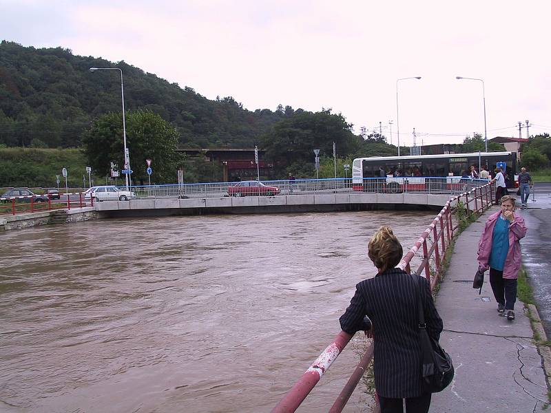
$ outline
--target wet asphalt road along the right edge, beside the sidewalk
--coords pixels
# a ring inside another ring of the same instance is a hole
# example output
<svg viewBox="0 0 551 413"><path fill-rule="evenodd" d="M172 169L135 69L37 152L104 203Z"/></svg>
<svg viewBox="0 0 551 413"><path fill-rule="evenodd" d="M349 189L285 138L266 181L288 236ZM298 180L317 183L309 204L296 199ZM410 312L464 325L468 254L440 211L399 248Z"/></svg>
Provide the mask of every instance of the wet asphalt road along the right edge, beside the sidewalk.
<svg viewBox="0 0 551 413"><path fill-rule="evenodd" d="M520 211L528 226L521 241L523 264L534 288L543 328L551 337L551 182L539 182L532 190L528 209Z"/></svg>

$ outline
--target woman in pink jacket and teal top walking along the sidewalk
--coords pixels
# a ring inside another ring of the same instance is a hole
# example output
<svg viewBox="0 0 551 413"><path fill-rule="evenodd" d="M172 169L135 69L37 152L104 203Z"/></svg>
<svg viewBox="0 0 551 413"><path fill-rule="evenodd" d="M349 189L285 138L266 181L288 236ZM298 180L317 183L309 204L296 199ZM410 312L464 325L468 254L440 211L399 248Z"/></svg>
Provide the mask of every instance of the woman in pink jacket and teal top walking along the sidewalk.
<svg viewBox="0 0 551 413"><path fill-rule="evenodd" d="M478 262L484 271L490 268L490 285L497 301L497 312L514 320L517 279L521 268L520 240L526 235L521 215L514 213L514 198L501 197L501 211L486 221L478 244Z"/></svg>

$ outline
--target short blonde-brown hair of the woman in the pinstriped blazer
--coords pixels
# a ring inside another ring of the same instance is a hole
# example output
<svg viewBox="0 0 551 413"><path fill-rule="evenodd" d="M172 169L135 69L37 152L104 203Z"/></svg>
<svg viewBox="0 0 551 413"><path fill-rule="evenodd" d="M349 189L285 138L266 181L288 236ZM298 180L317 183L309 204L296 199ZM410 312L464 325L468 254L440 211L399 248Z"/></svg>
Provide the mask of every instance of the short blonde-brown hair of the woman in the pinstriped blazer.
<svg viewBox="0 0 551 413"><path fill-rule="evenodd" d="M394 268L402 260L402 244L390 226L381 226L367 246L367 255L381 273Z"/></svg>

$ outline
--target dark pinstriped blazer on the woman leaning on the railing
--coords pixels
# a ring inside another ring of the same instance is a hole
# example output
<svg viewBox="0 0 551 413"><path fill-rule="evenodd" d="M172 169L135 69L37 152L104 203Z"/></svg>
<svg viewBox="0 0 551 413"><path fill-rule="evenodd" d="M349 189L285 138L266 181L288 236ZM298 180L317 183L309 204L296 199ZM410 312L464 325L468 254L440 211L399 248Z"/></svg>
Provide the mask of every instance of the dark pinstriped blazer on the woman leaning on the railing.
<svg viewBox="0 0 551 413"><path fill-rule="evenodd" d="M417 276L415 276L417 278ZM399 268L387 270L356 285L349 308L340 317L342 330L354 334L371 320L375 353L375 389L383 397L397 399L423 394L416 278ZM443 325L430 286L422 278L426 330L439 339Z"/></svg>

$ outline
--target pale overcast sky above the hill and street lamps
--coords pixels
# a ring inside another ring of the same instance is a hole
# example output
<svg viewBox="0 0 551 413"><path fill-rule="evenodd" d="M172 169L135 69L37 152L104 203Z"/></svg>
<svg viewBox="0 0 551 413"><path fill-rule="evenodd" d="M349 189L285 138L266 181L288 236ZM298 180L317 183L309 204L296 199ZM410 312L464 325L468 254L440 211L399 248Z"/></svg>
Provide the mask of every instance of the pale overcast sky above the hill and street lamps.
<svg viewBox="0 0 551 413"><path fill-rule="evenodd" d="M402 145L551 133L551 2L0 0L0 39L125 61L247 109L340 112ZM422 76L421 80L399 78ZM398 93L397 93L398 87ZM397 118L397 98L399 118ZM129 108L132 109L132 108ZM399 121L398 121L399 120Z"/></svg>

